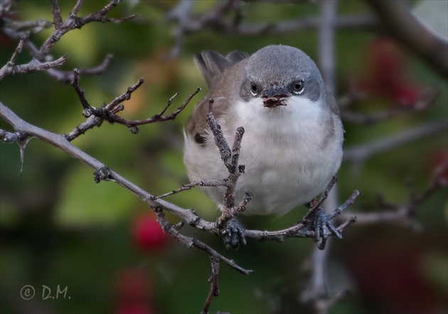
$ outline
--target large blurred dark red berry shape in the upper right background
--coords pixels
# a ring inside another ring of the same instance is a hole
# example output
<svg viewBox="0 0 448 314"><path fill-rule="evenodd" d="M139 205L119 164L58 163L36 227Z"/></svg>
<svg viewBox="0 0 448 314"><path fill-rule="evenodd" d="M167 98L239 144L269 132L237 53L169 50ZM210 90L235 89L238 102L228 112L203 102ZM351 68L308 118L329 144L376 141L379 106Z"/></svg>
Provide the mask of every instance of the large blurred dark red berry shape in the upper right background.
<svg viewBox="0 0 448 314"><path fill-rule="evenodd" d="M410 106L417 103L425 88L411 78L400 48L388 38L376 38L366 53L363 74L356 78L356 93L389 98L395 103Z"/></svg>

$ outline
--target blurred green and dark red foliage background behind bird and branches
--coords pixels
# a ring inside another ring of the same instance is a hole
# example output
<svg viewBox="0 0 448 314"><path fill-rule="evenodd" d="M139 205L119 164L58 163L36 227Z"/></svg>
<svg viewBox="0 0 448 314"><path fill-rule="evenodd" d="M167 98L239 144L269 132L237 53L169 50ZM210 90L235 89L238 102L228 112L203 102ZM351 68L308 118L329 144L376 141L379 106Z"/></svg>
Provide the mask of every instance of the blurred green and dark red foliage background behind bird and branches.
<svg viewBox="0 0 448 314"><path fill-rule="evenodd" d="M107 3L86 1L78 16ZM195 14L203 16L222 4L192 3L192 21L199 21ZM63 19L74 4L60 1ZM195 53L205 49L254 53L281 43L301 48L320 65L321 3L247 1L239 5L242 16L230 12L223 19L242 19L248 26L311 20L317 21L316 27L254 35L206 27L179 39L179 22L167 19L178 1L124 1L110 16L137 14L136 18L121 24L90 23L63 36L50 53L55 58L68 55L63 70L92 68L107 54L114 56L105 73L80 79L91 105L110 103L144 78L142 87L124 103L120 115L127 119L154 115L178 92L174 110L196 88L203 88L174 121L142 125L137 135L105 122L73 144L151 194L164 194L187 183L182 129L193 103L206 95L193 64ZM11 12L9 19L16 21L53 20L49 1L17 1ZM336 19L364 15L373 16L364 1L338 3ZM441 121L446 125L446 75L388 37L387 29L378 23L360 24L336 28L334 38L335 95L343 107L346 150ZM440 27L441 36L446 35L443 19ZM31 40L41 46L52 31L41 31ZM3 66L17 42L0 36ZM29 60L23 51L17 63ZM428 91L437 93L437 98L425 103ZM44 72L1 80L0 100L23 120L55 133L68 133L85 120L73 87ZM363 120L375 112L390 115ZM3 120L0 127L11 131ZM425 192L434 169L447 162L447 147L447 129L442 127L366 158L348 158L338 174L339 202L358 189L361 195L349 209L353 213L391 211L378 202L378 195L393 204L407 204L411 192ZM444 173L441 180L446 182L447 177ZM218 216L215 205L196 190L167 200L195 209L209 221ZM283 229L305 213L301 207L282 217L246 219L244 224L250 229ZM447 214L447 189L442 187L413 212L418 228L402 221L378 221L344 230L343 240L329 248L326 276L330 295L348 293L330 313L447 313ZM249 241L239 251L231 251L211 234L188 227L182 231L255 270L245 277L222 264L221 295L213 299L211 312L313 313L311 304L301 302L316 246L311 239L287 239L281 244ZM96 184L92 169L38 140L28 143L22 172L18 145L0 145L0 236L0 313L199 313L210 288L206 254L163 234L151 209L133 194L112 182ZM33 298L25 300L33 290Z"/></svg>

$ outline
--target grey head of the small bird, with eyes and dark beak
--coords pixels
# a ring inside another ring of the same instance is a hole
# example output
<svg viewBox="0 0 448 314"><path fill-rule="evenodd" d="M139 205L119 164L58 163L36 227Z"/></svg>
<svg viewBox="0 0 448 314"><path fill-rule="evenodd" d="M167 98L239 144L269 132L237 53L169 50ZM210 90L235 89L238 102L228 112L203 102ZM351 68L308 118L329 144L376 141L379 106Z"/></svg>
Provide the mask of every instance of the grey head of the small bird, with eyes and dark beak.
<svg viewBox="0 0 448 314"><path fill-rule="evenodd" d="M317 101L324 93L324 82L314 61L300 49L267 46L247 59L246 79L241 97L262 98L267 108L286 105L291 96Z"/></svg>

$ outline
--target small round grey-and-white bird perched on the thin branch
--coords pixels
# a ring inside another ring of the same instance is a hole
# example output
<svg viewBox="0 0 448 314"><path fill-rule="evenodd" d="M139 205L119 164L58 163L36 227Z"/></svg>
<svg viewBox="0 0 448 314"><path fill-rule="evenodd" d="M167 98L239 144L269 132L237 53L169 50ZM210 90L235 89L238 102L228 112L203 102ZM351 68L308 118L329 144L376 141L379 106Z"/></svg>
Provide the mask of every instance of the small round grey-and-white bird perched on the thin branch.
<svg viewBox="0 0 448 314"><path fill-rule="evenodd" d="M242 214L285 214L323 192L341 165L344 132L336 100L314 61L282 45L252 56L203 51L194 61L209 93L195 105L184 130L188 178L228 177L206 122L213 99L213 116L230 147L238 127L245 129L239 159L245 173L235 203L245 192L253 197ZM225 187L201 189L222 208ZM229 232L242 234L239 226Z"/></svg>

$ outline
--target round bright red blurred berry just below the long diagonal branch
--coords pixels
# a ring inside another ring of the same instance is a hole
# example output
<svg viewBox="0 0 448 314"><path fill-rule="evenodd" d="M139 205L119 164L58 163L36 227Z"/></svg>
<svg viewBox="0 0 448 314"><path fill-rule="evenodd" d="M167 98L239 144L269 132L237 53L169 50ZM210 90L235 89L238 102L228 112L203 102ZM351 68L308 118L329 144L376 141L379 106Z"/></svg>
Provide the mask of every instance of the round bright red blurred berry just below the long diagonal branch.
<svg viewBox="0 0 448 314"><path fill-rule="evenodd" d="M132 222L132 238L145 251L159 251L167 241L156 216L151 212L137 214Z"/></svg>

